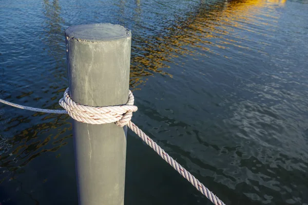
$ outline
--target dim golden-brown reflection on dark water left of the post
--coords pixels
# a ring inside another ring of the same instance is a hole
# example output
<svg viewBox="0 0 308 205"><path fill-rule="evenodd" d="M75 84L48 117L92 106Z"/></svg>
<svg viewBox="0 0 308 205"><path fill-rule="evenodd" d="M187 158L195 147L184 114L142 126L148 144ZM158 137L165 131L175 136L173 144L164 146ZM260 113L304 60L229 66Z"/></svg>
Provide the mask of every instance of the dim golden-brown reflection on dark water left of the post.
<svg viewBox="0 0 308 205"><path fill-rule="evenodd" d="M57 93L63 93L63 89L57 90ZM28 96L30 93L24 93L22 96ZM59 108L58 108L59 109ZM32 124L30 116L16 116L6 121L5 132L16 129L18 131L12 138L5 141L5 145L0 147L0 168L3 174L0 183L10 178L11 174L27 165L34 158L45 152L55 152L67 144L66 139L72 137L71 124L67 115L34 113L32 115L39 118L40 124ZM29 128L22 131L17 129L25 124L30 124ZM5 148L10 147L9 152Z"/></svg>

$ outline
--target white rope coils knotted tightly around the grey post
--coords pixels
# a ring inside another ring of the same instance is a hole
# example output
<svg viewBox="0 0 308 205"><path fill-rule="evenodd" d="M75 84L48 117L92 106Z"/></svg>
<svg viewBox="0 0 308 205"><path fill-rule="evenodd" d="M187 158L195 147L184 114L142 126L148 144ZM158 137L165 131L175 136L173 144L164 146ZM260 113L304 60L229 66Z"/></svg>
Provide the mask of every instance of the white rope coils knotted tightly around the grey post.
<svg viewBox="0 0 308 205"><path fill-rule="evenodd" d="M129 91L128 101L125 105L120 106L104 106L92 107L75 103L69 96L69 88L64 92L63 98L59 100L59 104L63 107L69 116L73 119L88 124L107 124L115 122L120 127L128 124L132 117L132 112L138 110L133 105L134 97Z"/></svg>

